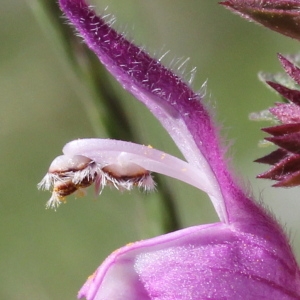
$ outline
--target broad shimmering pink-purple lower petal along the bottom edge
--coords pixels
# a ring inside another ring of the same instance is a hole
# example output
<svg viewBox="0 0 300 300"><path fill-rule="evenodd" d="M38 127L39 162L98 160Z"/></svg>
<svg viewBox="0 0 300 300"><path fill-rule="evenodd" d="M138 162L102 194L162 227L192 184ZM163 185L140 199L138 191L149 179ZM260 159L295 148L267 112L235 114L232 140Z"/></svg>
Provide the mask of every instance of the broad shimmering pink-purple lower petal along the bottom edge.
<svg viewBox="0 0 300 300"><path fill-rule="evenodd" d="M127 245L88 279L88 300L299 299L285 247L218 223ZM274 270L276 270L274 272Z"/></svg>

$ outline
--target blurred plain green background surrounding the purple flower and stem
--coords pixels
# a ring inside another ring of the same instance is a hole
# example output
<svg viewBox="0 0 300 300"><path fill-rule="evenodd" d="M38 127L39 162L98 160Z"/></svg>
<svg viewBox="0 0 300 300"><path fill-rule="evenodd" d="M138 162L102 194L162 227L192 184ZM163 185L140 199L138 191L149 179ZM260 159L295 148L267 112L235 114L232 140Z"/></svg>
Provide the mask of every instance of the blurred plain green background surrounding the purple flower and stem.
<svg viewBox="0 0 300 300"><path fill-rule="evenodd" d="M50 1L50 0L49 0ZM101 197L70 197L56 212L45 210L50 194L38 191L52 159L73 139L108 137L94 111L92 93L65 59L51 30L37 22L38 0L2 1L0 11L0 298L75 299L85 279L116 248L161 233L158 192ZM276 52L295 53L299 45L232 15L217 1L98 0L99 12L117 17L117 28L151 53L171 50L172 58L190 57L197 67L195 89L208 79L208 102L224 126L238 176L251 185L290 232L300 259L299 189L274 190L255 179L265 170L252 163L271 149L257 147L263 134L248 114L279 98L257 79L260 70L277 72ZM63 20L61 20L63 22ZM125 25L125 26L123 26ZM124 101L136 141L179 155L150 113L113 79L109 84ZM101 99L100 99L101 100ZM93 117L94 116L94 117ZM114 124L117 119L111 118ZM134 140L135 141L135 140ZM181 226L217 221L207 197L166 179ZM163 216L162 216L163 217Z"/></svg>

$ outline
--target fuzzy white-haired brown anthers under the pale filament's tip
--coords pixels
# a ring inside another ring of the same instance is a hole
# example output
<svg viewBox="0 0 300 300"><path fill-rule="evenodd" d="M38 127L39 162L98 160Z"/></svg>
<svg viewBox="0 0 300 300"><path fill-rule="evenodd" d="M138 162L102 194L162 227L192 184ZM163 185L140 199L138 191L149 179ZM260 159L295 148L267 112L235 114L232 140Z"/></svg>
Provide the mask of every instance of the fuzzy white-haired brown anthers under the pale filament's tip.
<svg viewBox="0 0 300 300"><path fill-rule="evenodd" d="M93 183L99 194L107 184L121 191L134 187L145 191L155 188L150 172L135 163L117 161L100 164L83 155L61 155L55 158L38 188L52 188L52 196L46 207L55 209L66 201L67 196L74 192L83 194L83 189Z"/></svg>

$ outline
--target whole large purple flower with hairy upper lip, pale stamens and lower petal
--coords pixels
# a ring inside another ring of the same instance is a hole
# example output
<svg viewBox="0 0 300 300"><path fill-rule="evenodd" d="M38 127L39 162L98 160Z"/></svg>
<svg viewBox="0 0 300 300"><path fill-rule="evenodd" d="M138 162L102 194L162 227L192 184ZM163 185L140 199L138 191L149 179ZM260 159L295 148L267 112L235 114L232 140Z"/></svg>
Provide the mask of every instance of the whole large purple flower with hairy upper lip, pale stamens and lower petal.
<svg viewBox="0 0 300 300"><path fill-rule="evenodd" d="M203 97L143 49L127 41L84 0L61 9L121 85L169 132L186 161L149 146L101 139L68 143L41 186L56 207L95 183L153 189L151 172L205 191L220 218L113 252L79 291L98 300L300 299L297 262L275 218L230 173L218 128Z"/></svg>

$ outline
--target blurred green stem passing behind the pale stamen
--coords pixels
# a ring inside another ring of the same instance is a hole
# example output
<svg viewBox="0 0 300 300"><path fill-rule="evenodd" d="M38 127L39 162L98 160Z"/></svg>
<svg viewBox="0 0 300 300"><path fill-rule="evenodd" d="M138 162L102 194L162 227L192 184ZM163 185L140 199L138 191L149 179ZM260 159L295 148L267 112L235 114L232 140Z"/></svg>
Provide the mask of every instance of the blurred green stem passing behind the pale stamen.
<svg viewBox="0 0 300 300"><path fill-rule="evenodd" d="M58 56L62 58L63 69L68 71L71 69L67 78L78 97L84 99L83 104L96 135L99 136L99 129L104 127L111 138L139 142L134 127L123 109L122 101L109 82L106 70L96 56L74 38L72 30L63 24L56 2L31 0L28 3L46 36L55 45ZM90 94L90 97L87 97L87 94ZM161 224L163 232L178 230L181 226L172 190L158 176L156 181L161 199L158 201L158 208L153 209L153 213L151 209L151 216Z"/></svg>

